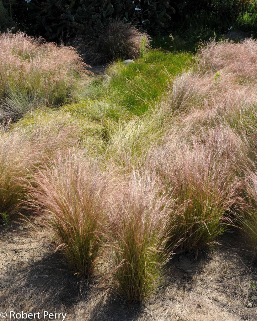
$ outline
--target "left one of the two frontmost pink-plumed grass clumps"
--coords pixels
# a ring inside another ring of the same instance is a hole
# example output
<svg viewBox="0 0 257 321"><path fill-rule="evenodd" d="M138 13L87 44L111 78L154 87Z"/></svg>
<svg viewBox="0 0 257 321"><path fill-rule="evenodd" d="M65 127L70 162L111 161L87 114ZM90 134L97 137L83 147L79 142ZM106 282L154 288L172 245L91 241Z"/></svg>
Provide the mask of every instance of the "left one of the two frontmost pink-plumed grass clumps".
<svg viewBox="0 0 257 321"><path fill-rule="evenodd" d="M38 171L31 197L36 212L46 215L57 249L82 278L93 273L107 227L104 199L108 178L82 155L67 155Z"/></svg>

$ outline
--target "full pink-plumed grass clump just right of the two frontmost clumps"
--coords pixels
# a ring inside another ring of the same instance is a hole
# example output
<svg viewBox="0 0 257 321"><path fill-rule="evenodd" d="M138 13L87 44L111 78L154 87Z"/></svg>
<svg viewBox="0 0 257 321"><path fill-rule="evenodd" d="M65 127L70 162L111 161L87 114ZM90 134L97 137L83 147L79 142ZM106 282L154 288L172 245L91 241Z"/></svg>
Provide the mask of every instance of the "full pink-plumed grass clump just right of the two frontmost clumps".
<svg viewBox="0 0 257 321"><path fill-rule="evenodd" d="M197 250L217 242L230 222L234 179L247 149L232 130L222 127L192 145L183 140L174 144L174 139L170 137L160 152L157 172L180 209L174 238L183 238L185 249Z"/></svg>

